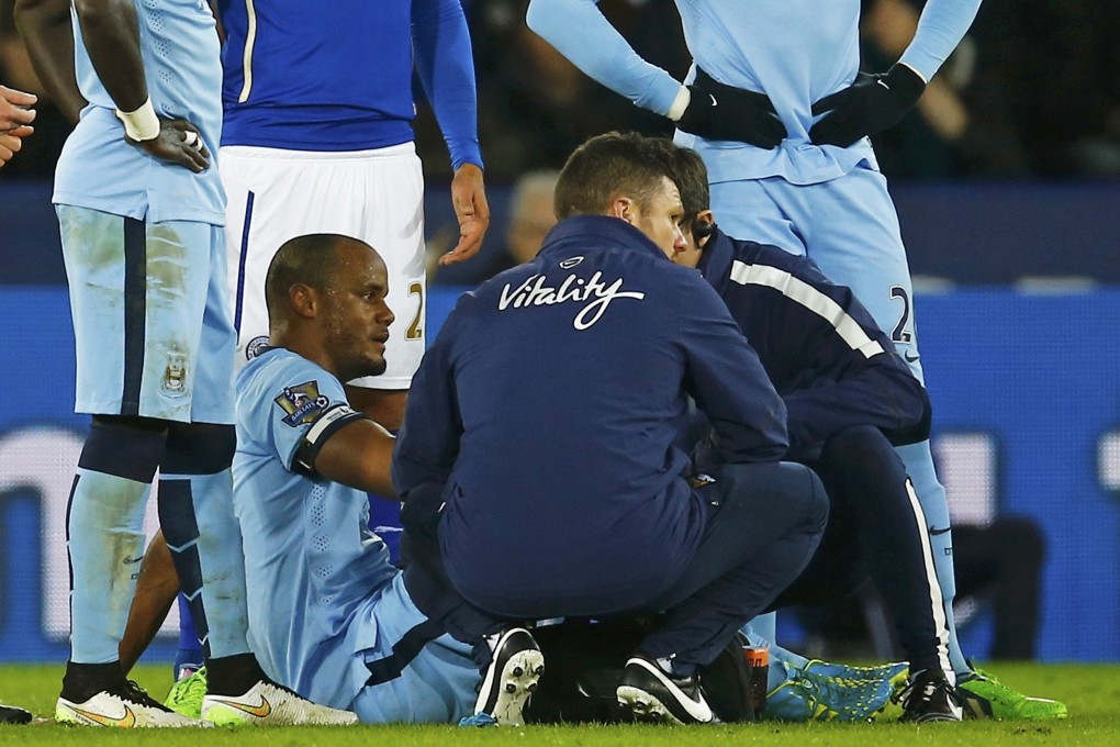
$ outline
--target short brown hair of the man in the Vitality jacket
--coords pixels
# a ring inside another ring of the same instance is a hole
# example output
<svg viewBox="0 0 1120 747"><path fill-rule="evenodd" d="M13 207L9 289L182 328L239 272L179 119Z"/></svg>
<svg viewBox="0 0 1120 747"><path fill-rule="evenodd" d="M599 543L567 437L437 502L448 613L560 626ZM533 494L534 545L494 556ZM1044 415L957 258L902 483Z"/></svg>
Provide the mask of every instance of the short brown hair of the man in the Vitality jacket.
<svg viewBox="0 0 1120 747"><path fill-rule="evenodd" d="M604 213L617 195L633 197L642 207L648 205L671 174L666 142L636 132L607 132L579 146L557 181L552 197L557 218Z"/></svg>

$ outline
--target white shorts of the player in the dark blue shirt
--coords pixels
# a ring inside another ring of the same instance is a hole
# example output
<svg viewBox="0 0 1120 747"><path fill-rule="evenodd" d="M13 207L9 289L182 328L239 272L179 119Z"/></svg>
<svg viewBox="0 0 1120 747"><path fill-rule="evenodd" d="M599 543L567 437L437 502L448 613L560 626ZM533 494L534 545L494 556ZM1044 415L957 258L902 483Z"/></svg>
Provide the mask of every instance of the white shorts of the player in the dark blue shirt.
<svg viewBox="0 0 1120 747"><path fill-rule="evenodd" d="M386 300L396 315L385 373L352 383L408 389L424 349L423 174L413 143L349 152L231 146L221 149L218 164L230 200L235 365L268 342L264 276L280 246L296 236L336 233L381 254L389 270Z"/></svg>

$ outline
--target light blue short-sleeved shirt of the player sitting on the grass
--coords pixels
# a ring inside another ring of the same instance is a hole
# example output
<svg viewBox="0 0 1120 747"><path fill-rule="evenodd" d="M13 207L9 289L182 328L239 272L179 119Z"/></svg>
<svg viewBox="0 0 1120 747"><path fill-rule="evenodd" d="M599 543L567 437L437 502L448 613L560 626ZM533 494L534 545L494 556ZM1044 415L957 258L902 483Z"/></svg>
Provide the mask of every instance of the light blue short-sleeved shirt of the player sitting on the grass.
<svg viewBox="0 0 1120 747"><path fill-rule="evenodd" d="M283 348L260 355L236 383L233 502L249 589L249 641L264 671L318 702L346 707L344 676L375 644L374 608L396 569L368 529L365 493L301 474L296 452L343 385ZM360 624L353 624L358 620Z"/></svg>

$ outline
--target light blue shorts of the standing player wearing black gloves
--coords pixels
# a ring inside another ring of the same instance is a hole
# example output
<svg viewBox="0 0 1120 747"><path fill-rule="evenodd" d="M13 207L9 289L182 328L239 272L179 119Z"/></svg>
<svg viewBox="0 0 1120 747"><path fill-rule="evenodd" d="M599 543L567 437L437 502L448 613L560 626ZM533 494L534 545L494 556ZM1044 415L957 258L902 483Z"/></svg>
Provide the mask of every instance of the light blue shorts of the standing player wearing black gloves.
<svg viewBox="0 0 1120 747"><path fill-rule="evenodd" d="M808 255L830 280L851 288L924 381L909 267L883 174L861 166L820 184L721 181L711 185L711 208L728 235Z"/></svg>

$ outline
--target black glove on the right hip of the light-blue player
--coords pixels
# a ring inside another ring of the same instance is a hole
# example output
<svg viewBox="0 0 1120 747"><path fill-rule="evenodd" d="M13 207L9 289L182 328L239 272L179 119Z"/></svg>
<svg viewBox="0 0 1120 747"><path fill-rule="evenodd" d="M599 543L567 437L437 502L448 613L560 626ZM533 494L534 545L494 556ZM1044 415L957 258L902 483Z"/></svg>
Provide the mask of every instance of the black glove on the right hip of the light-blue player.
<svg viewBox="0 0 1120 747"><path fill-rule="evenodd" d="M813 115L829 112L809 131L818 146L847 148L860 138L895 124L917 103L925 81L906 65L895 64L886 73L860 73L842 91L813 104Z"/></svg>

